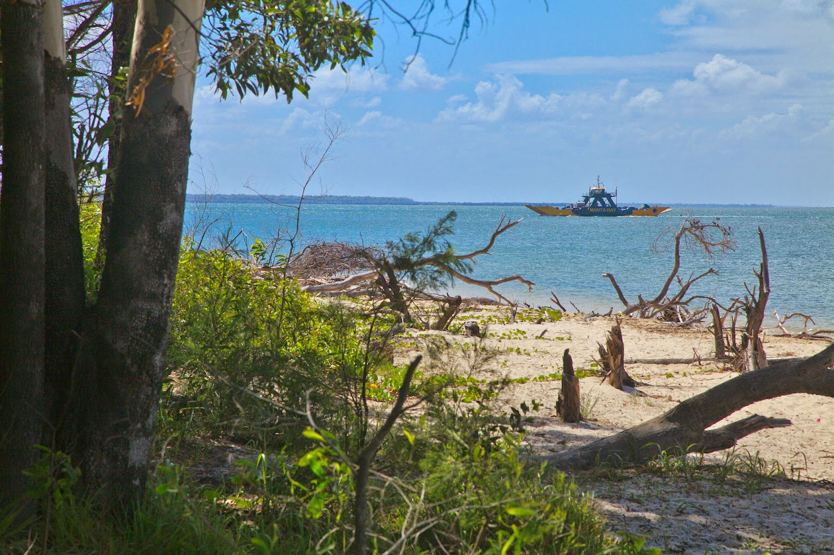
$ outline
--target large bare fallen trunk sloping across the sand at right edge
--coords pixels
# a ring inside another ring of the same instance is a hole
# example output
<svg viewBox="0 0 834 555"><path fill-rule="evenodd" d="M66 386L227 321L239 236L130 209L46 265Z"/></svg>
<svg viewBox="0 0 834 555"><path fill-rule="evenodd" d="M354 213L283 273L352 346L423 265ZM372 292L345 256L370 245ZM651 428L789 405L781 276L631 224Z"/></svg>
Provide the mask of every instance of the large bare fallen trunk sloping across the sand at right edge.
<svg viewBox="0 0 834 555"><path fill-rule="evenodd" d="M811 358L771 364L743 373L715 388L686 399L661 416L583 447L545 457L555 468L587 469L599 463L639 463L661 451L711 453L731 448L741 438L764 428L781 428L784 419L744 418L707 430L752 403L811 393L834 397L834 343Z"/></svg>

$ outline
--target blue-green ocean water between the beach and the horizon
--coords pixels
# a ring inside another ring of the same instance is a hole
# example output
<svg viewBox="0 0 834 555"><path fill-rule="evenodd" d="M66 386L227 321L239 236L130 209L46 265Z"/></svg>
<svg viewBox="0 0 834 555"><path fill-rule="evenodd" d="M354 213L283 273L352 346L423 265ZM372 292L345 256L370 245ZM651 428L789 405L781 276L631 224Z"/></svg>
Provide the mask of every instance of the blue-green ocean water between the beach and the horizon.
<svg viewBox="0 0 834 555"><path fill-rule="evenodd" d="M270 204L207 205L209 219L221 218L207 237L222 228L240 240L270 238L294 231L293 211ZM756 229L765 234L771 275L768 313L805 313L817 328L834 328L834 208L676 208L656 218L542 217L524 206L371 206L307 205L299 221L300 246L314 241L345 241L379 245L404 233L421 232L455 210L455 233L450 243L458 253L482 248L502 217L522 221L502 234L490 255L476 258L475 278L495 279L520 274L535 283L531 291L520 283L500 286L506 297L530 305L550 304L555 293L562 304L583 311L619 309L622 305L603 273L614 274L630 301L637 294L652 298L660 291L672 267L672 251L658 251L656 238L666 228L678 228L683 218L708 221L720 218L736 239L736 250L707 259L703 253L686 253L681 276L715 268L691 288L693 294L711 295L721 303L743 297L745 283L757 283L761 252ZM189 203L186 228L198 205ZM489 296L463 283L450 293ZM675 286L671 291L675 291ZM772 319L771 319L772 322ZM796 318L791 323L801 324Z"/></svg>

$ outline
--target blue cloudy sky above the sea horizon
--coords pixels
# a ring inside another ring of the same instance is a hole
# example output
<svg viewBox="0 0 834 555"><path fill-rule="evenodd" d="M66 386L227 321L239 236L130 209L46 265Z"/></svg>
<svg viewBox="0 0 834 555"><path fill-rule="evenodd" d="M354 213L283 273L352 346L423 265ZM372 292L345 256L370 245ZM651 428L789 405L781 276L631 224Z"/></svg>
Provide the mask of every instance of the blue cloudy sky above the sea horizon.
<svg viewBox="0 0 834 555"><path fill-rule="evenodd" d="M195 166L218 193L297 194L327 114L347 133L314 193L567 202L599 174L625 203L834 206L831 0L496 0L488 15L451 66L426 39L408 72L414 40L382 23L374 59L317 72L289 105L198 82Z"/></svg>

